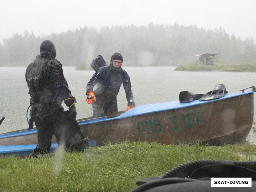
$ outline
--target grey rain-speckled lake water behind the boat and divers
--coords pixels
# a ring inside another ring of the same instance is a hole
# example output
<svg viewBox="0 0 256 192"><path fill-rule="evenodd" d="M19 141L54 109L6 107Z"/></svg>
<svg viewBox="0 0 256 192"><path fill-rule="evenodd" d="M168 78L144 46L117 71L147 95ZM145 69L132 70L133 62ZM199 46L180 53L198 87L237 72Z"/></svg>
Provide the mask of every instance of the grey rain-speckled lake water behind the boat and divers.
<svg viewBox="0 0 256 192"><path fill-rule="evenodd" d="M256 85L255 73L184 72L174 71L175 67L122 67L130 76L136 106L179 100L181 91L205 94L212 91L216 84L224 84L229 93ZM25 71L26 67L0 67L0 118L5 117L0 125L0 133L28 128L26 113L30 96ZM77 100L77 119L92 116L92 106L86 103L85 98L86 84L94 71L76 71L74 67L63 67L63 72ZM125 110L127 100L123 87L117 102L118 110ZM256 133L253 130L247 141L256 144Z"/></svg>

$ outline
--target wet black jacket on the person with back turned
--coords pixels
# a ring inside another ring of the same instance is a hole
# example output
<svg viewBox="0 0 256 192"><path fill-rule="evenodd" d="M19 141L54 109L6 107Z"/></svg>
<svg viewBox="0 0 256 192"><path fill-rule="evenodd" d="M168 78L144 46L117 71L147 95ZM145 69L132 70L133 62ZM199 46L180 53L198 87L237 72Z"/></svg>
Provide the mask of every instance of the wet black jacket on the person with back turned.
<svg viewBox="0 0 256 192"><path fill-rule="evenodd" d="M56 110L64 111L62 100L72 95L55 55L42 51L27 67L25 77L31 96L31 117L44 118Z"/></svg>

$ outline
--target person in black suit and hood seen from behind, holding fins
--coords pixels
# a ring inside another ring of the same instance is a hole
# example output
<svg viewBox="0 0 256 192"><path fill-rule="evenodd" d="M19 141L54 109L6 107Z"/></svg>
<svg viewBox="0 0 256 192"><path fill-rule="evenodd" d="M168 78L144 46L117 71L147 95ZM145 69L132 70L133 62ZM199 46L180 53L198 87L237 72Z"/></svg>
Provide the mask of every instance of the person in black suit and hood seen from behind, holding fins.
<svg viewBox="0 0 256 192"><path fill-rule="evenodd" d="M62 65L55 56L56 49L52 41L43 41L40 55L29 64L25 75L31 97L30 116L38 130L37 148L47 152L50 151L52 135L55 135L57 142L64 144L65 147L84 139L75 120L75 97L72 96L63 76ZM69 107L67 113L61 105L63 100ZM75 140L71 139L73 134L79 136Z"/></svg>

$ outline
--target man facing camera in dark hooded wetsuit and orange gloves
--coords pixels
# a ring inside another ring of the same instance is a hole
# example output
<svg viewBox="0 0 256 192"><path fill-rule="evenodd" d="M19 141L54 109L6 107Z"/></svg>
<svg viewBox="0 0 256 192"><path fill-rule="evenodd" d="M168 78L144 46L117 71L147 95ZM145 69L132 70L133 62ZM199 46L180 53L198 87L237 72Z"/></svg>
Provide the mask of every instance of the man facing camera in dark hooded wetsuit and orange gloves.
<svg viewBox="0 0 256 192"><path fill-rule="evenodd" d="M121 68L123 56L115 52L110 59L110 65L101 67L93 74L86 86L86 102L92 104L93 116L100 117L107 113L117 112L116 96L121 85L124 86L128 102L125 111L135 107L132 95L132 86L128 73ZM97 89L93 87L97 84Z"/></svg>

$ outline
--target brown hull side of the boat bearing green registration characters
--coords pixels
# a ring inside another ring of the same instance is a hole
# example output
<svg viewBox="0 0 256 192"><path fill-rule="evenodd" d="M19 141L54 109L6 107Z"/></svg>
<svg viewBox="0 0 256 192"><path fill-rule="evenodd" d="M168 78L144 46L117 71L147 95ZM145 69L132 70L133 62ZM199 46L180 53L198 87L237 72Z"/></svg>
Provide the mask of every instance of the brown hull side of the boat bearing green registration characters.
<svg viewBox="0 0 256 192"><path fill-rule="evenodd" d="M196 142L222 145L245 140L253 122L253 93L199 102L183 108L81 124L80 128L98 146L126 140L175 145Z"/></svg>

